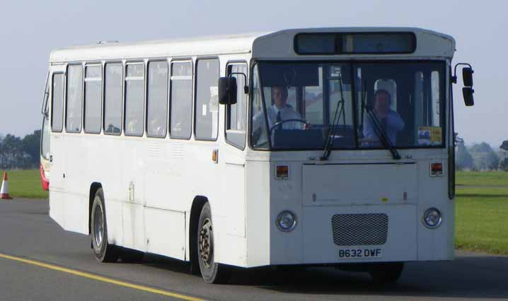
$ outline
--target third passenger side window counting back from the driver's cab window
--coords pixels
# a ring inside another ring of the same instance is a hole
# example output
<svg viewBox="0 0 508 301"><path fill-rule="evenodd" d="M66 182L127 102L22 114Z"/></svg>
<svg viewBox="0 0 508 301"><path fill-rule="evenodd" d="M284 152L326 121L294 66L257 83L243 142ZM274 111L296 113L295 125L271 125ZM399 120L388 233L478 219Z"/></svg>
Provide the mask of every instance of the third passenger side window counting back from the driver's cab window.
<svg viewBox="0 0 508 301"><path fill-rule="evenodd" d="M165 137L168 119L168 62L148 63L148 112L146 134Z"/></svg>

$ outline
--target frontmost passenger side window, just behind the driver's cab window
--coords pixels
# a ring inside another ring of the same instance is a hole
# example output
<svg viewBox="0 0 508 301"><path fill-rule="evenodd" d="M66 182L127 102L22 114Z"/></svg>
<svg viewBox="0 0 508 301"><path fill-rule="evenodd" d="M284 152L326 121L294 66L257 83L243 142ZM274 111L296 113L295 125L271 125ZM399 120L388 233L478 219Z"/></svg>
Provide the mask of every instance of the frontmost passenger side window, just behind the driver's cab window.
<svg viewBox="0 0 508 301"><path fill-rule="evenodd" d="M195 135L197 140L217 139L219 125L219 59L200 59L196 63Z"/></svg>

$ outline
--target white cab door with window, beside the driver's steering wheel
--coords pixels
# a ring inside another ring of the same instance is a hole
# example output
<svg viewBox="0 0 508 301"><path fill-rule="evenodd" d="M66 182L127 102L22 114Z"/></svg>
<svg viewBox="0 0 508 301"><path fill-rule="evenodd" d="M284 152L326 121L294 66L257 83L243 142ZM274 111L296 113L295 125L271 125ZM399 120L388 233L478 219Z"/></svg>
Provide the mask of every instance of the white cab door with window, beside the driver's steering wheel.
<svg viewBox="0 0 508 301"><path fill-rule="evenodd" d="M229 235L245 237L245 156L247 129L247 94L243 90L248 73L247 64L231 63L226 66L227 75L236 78L236 104L226 105L226 144L219 153L224 155L224 185L222 191L228 194L224 206Z"/></svg>

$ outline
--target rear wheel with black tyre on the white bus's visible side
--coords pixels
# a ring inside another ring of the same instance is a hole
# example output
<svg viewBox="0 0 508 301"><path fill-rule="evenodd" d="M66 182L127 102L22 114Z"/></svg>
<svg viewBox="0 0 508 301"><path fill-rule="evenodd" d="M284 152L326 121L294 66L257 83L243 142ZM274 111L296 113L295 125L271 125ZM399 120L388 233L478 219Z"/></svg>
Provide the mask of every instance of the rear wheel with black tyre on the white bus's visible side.
<svg viewBox="0 0 508 301"><path fill-rule="evenodd" d="M91 211L92 249L96 259L100 262L115 262L118 260L118 249L108 243L108 224L104 206L103 189L97 189L93 199Z"/></svg>

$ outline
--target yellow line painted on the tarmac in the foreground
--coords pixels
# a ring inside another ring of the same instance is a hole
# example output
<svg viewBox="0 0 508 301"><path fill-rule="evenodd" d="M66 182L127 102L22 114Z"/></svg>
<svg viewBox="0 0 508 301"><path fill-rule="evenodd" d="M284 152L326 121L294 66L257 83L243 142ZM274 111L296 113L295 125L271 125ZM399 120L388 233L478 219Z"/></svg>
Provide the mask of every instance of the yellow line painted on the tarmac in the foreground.
<svg viewBox="0 0 508 301"><path fill-rule="evenodd" d="M117 281L115 279L108 278L108 277L97 276L97 275L93 275L91 273L85 273L85 272L81 272L81 271L71 270L70 268L62 268L61 266L54 266L52 264L45 264L40 261L24 259L24 258L20 258L20 257L16 257L16 256L10 256L10 255L0 253L0 258L11 259L14 261L20 261L25 264L33 264L34 266L41 266L42 268L50 268L54 271L60 271L60 272L69 273L69 274L76 275L76 276L81 276L84 278L93 279L96 281L103 281L106 283L112 283L112 284L116 284L116 285L120 285L120 286L125 286L126 288L134 288L135 290L143 290L145 292L154 293L154 294L158 294L158 295L175 297L175 298L179 298L182 300L189 300L189 301L202 301L203 300L203 299L196 298L196 297L190 297L190 296L186 296L186 295L180 295L177 293L171 293L171 292L168 292L167 290L158 290L156 288L150 288L150 287L144 286L144 285L137 285L137 284L128 283L128 282L124 282L124 281Z"/></svg>

